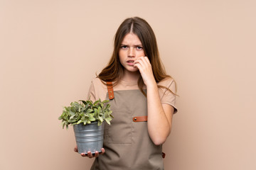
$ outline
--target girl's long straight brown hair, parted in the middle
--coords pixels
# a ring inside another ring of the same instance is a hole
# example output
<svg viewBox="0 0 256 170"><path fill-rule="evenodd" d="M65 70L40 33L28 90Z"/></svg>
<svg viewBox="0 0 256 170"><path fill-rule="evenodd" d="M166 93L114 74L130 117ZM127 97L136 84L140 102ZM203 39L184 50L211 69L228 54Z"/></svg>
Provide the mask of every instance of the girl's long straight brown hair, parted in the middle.
<svg viewBox="0 0 256 170"><path fill-rule="evenodd" d="M161 63L154 31L152 30L151 26L149 26L149 23L139 17L127 18L121 23L117 29L117 33L114 36L114 50L110 62L108 63L107 67L102 69L102 72L100 72L97 77L105 82L114 81L114 86L118 84L123 75L124 69L119 61L119 49L122 40L127 33L134 33L142 42L144 54L149 58L156 83L170 77L166 74L164 66ZM145 92L143 91L144 82L142 77L139 77L138 79L138 86L140 91L142 91L142 93L146 96ZM164 86L159 86L159 88L168 89ZM169 89L169 91L171 90ZM171 91L171 93L173 92Z"/></svg>

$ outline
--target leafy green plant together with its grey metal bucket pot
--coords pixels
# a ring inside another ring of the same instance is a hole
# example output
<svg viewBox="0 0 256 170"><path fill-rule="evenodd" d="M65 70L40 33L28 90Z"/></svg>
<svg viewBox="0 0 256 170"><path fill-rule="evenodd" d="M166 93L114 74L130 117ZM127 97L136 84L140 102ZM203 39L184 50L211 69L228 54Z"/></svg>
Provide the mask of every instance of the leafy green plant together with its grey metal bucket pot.
<svg viewBox="0 0 256 170"><path fill-rule="evenodd" d="M63 128L73 125L78 153L95 153L101 151L104 137L104 121L110 125L113 116L110 104L105 101L75 101L70 106L63 107L63 113L58 118L62 120Z"/></svg>

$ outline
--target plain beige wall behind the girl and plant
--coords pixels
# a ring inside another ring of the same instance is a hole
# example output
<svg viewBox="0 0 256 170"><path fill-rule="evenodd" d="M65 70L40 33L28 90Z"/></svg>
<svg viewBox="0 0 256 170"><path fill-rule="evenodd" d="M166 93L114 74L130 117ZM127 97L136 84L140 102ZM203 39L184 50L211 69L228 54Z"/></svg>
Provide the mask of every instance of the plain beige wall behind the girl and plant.
<svg viewBox="0 0 256 170"><path fill-rule="evenodd" d="M0 1L0 169L89 169L63 130L124 18L156 33L178 83L165 168L256 169L255 1Z"/></svg>

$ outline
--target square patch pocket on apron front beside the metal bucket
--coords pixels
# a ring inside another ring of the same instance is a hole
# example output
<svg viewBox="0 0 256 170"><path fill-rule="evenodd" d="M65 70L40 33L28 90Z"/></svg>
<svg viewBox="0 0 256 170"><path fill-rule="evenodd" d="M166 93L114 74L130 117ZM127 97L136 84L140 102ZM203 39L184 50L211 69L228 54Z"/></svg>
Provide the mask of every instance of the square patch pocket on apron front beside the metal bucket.
<svg viewBox="0 0 256 170"><path fill-rule="evenodd" d="M105 137L108 143L131 144L132 143L132 111L124 109L112 110L114 118L111 125L106 125Z"/></svg>

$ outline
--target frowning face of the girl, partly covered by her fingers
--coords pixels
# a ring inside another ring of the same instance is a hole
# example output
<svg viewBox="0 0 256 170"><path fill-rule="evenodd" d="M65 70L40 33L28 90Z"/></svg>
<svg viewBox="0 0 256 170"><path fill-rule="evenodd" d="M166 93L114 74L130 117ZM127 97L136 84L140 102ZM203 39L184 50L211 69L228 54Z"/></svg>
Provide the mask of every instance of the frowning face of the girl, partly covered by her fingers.
<svg viewBox="0 0 256 170"><path fill-rule="evenodd" d="M134 67L134 61L144 56L142 42L138 36L134 33L127 33L119 49L119 60L124 67L124 71L137 72L138 68Z"/></svg>

